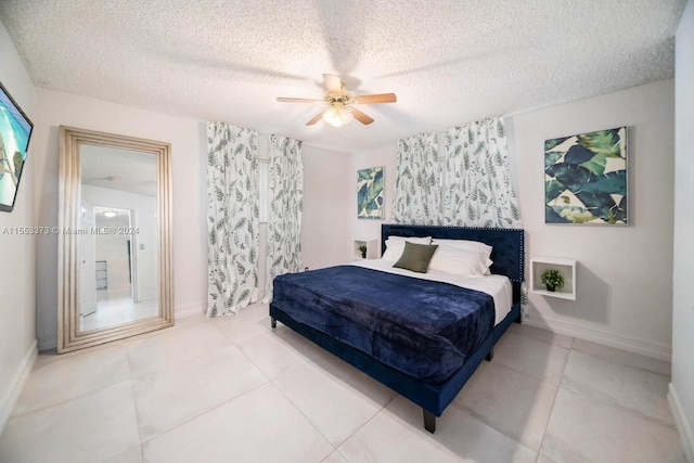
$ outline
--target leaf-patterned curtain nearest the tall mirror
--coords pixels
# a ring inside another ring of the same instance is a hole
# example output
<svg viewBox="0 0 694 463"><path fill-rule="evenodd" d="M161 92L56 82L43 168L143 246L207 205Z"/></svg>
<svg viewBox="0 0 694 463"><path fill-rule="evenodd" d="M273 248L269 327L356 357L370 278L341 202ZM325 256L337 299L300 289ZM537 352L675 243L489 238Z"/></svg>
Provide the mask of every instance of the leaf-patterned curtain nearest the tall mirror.
<svg viewBox="0 0 694 463"><path fill-rule="evenodd" d="M258 133L207 124L207 316L258 297Z"/></svg>

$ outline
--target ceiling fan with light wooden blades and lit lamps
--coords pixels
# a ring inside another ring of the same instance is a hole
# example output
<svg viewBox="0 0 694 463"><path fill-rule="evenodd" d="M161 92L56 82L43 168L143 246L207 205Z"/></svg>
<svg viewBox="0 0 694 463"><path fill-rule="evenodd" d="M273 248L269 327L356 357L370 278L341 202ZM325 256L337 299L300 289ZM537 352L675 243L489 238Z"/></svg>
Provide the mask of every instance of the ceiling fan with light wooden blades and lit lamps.
<svg viewBox="0 0 694 463"><path fill-rule="evenodd" d="M395 103L397 101L395 93L352 97L345 88L345 82L334 74L323 74L323 82L325 83L325 97L322 100L280 97L278 98L278 101L290 103L327 103L330 107L319 113L316 117L306 123L306 125L312 126L322 118L333 127L342 127L352 118L364 125L373 123L372 117L367 116L364 113L354 107L354 104Z"/></svg>

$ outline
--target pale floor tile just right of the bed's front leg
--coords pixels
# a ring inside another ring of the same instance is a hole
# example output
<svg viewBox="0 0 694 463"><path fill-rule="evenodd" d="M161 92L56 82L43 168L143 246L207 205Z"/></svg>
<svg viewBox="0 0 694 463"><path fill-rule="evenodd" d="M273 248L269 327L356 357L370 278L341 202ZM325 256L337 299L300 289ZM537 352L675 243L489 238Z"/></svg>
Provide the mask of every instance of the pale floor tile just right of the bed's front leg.
<svg viewBox="0 0 694 463"><path fill-rule="evenodd" d="M555 385L505 365L483 362L453 404L538 451L556 389Z"/></svg>

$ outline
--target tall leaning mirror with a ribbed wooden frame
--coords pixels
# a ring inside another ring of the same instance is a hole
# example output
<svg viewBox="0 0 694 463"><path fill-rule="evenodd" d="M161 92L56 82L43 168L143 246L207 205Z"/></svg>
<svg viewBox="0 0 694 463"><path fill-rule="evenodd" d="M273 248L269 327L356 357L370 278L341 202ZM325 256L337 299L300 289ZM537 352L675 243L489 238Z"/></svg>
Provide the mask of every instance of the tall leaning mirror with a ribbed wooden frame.
<svg viewBox="0 0 694 463"><path fill-rule="evenodd" d="M171 326L170 145L60 137L59 353Z"/></svg>

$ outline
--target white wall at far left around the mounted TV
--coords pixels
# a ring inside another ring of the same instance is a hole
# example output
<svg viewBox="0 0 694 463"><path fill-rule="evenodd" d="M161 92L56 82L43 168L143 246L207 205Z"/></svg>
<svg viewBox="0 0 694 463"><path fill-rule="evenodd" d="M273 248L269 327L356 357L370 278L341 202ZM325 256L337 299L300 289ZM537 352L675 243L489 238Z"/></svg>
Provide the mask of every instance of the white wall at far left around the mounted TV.
<svg viewBox="0 0 694 463"><path fill-rule="evenodd" d="M2 23L0 81L36 124L36 90ZM0 213L0 433L36 357L36 239L34 235L11 234L9 231L15 227L37 224L34 208L37 159L34 143L33 137L14 210Z"/></svg>

